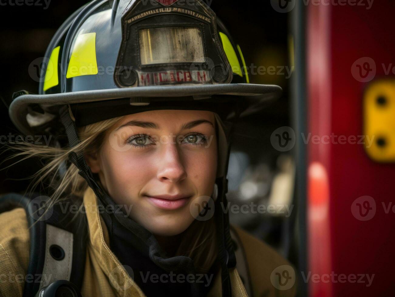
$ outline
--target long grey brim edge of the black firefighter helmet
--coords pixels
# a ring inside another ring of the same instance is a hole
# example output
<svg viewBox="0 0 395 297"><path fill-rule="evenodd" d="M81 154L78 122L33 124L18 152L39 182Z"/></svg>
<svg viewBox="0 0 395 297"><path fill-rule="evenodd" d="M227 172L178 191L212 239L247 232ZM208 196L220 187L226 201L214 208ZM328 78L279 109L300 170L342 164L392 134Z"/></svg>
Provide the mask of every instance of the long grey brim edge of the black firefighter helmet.
<svg viewBox="0 0 395 297"><path fill-rule="evenodd" d="M241 100L251 101L251 105L278 99L282 88L276 85L262 84L214 84L182 86L148 86L135 88L116 88L106 90L88 90L48 95L21 95L9 106L9 117L15 127L23 134L30 133L26 121L27 108L34 104L63 105L83 102L104 101L128 97L183 97L204 95L241 96Z"/></svg>

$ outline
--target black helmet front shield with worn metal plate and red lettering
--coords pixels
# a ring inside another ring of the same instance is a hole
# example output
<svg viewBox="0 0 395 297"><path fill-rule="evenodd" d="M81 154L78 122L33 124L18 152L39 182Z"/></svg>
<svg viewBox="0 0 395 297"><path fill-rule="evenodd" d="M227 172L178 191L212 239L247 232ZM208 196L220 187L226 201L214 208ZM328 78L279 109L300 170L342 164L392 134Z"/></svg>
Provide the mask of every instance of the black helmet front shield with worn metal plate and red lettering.
<svg viewBox="0 0 395 297"><path fill-rule="evenodd" d="M135 2L122 17L118 86L231 82L211 9L200 1L146 3Z"/></svg>

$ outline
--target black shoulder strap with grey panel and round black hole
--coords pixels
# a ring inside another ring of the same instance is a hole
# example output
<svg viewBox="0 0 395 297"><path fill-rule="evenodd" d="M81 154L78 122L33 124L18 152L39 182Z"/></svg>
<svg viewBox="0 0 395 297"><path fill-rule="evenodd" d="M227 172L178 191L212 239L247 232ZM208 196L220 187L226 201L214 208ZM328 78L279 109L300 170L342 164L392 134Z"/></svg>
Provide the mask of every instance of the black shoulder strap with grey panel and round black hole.
<svg viewBox="0 0 395 297"><path fill-rule="evenodd" d="M34 296L56 280L68 280L81 290L88 234L85 212L71 220L70 206L56 204L43 213L40 208L48 198L38 193L32 197L17 193L0 196L0 213L23 207L30 227L30 278L26 278L29 282L24 284L23 297Z"/></svg>

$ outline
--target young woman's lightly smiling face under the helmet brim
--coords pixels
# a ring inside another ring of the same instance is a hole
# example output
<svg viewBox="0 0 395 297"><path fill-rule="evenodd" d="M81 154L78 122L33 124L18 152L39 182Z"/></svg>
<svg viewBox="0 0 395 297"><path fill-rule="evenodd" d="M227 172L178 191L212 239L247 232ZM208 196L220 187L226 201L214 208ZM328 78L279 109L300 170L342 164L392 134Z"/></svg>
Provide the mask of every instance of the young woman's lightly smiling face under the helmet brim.
<svg viewBox="0 0 395 297"><path fill-rule="evenodd" d="M131 114L108 131L87 162L129 217L153 234L176 235L193 222L192 207L213 193L215 125L209 111Z"/></svg>

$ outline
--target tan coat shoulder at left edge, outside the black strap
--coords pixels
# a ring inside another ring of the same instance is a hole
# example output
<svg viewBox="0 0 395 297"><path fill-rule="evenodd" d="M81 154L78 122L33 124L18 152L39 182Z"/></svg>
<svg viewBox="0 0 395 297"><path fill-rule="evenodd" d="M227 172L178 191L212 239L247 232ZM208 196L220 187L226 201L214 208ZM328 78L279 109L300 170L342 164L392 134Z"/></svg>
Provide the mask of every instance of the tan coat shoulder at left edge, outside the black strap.
<svg viewBox="0 0 395 297"><path fill-rule="evenodd" d="M30 252L25 210L0 213L0 226L0 296L22 296Z"/></svg>

